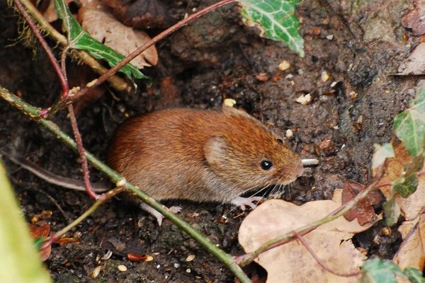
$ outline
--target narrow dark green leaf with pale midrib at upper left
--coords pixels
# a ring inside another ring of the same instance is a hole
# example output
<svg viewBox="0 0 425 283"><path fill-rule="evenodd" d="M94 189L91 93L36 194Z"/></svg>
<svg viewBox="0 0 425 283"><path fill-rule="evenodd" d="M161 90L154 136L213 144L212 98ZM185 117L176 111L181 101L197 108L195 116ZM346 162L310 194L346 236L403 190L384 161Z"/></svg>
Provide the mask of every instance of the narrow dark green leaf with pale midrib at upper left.
<svg viewBox="0 0 425 283"><path fill-rule="evenodd" d="M55 0L55 10L57 16L59 16L62 21L64 28L68 32L68 45L71 48L84 50L89 52L96 59L103 59L108 62L108 64L113 67L119 62L121 62L125 56L115 52L111 48L103 45L101 42L98 42L93 37L81 28L81 25L77 23L74 16L72 16L71 11L64 0ZM120 69L129 79L135 77L136 79L145 79L145 76L137 67L132 64L126 64L123 68Z"/></svg>

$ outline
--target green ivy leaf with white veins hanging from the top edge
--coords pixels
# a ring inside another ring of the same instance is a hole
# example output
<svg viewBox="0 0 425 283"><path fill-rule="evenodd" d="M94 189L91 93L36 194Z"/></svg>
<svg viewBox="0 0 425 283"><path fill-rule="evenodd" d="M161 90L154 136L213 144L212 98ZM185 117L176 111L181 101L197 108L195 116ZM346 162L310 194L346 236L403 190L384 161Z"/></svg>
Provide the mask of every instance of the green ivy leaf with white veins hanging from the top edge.
<svg viewBox="0 0 425 283"><path fill-rule="evenodd" d="M304 40L295 16L295 7L299 3L300 0L239 0L247 25L256 25L262 37L282 41L304 57Z"/></svg>

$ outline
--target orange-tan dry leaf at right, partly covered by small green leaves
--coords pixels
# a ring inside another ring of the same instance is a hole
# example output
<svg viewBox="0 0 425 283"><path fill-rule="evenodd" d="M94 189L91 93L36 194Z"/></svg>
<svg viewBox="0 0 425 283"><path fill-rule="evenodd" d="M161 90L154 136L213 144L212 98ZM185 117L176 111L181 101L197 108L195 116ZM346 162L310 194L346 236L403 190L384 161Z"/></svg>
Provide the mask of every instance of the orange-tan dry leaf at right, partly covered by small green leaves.
<svg viewBox="0 0 425 283"><path fill-rule="evenodd" d="M404 149L402 143L396 144L394 146L394 153L395 158L387 159L387 172L385 172L380 183L392 182L399 178L400 174L402 173L404 164L412 161L412 158L407 153L407 150ZM424 168L422 168L422 171L424 171ZM425 207L425 175L419 176L418 179L418 187L416 192L414 192L412 195L407 198L395 195L395 201L399 205L402 211L402 215L407 221L415 219L421 212L421 209ZM380 190L385 195L385 197L390 197L390 186L380 187Z"/></svg>

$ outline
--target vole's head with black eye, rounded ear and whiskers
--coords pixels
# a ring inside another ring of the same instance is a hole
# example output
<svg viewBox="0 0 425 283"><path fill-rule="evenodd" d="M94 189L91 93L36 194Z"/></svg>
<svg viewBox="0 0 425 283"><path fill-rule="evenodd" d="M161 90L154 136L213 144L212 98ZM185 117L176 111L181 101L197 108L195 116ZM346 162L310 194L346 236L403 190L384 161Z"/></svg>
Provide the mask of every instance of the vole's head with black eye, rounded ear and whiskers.
<svg viewBox="0 0 425 283"><path fill-rule="evenodd" d="M217 133L204 144L212 171L242 193L268 185L287 185L302 175L300 158L282 139L246 112L224 107Z"/></svg>

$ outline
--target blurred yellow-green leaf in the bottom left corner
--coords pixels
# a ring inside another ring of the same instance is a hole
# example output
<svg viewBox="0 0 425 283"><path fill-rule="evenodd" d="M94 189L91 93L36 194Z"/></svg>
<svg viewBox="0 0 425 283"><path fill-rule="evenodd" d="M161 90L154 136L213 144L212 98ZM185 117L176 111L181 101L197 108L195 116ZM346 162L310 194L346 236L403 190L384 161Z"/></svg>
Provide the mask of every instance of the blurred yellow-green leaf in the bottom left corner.
<svg viewBox="0 0 425 283"><path fill-rule="evenodd" d="M0 282L51 282L0 162Z"/></svg>

